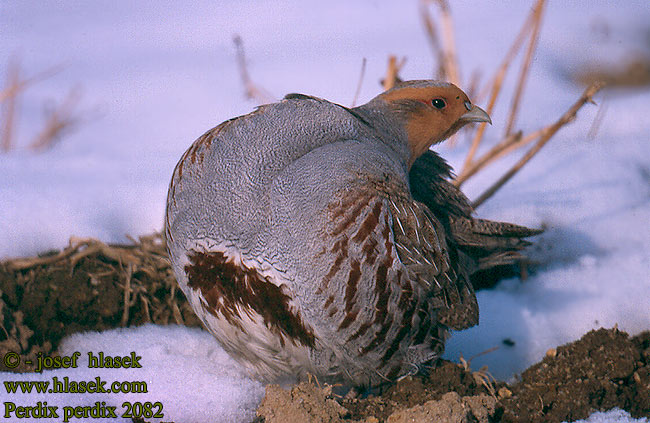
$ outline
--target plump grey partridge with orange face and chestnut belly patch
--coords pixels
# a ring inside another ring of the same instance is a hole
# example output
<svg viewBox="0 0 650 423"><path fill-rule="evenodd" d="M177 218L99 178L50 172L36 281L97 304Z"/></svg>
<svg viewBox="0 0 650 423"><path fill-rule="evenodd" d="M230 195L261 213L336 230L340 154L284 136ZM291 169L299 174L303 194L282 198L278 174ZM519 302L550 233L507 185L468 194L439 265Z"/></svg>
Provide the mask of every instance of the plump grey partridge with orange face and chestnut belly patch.
<svg viewBox="0 0 650 423"><path fill-rule="evenodd" d="M490 122L456 86L400 83L346 108L302 94L199 137L169 187L178 283L252 376L377 385L478 323L472 272L538 231L472 217L429 150Z"/></svg>

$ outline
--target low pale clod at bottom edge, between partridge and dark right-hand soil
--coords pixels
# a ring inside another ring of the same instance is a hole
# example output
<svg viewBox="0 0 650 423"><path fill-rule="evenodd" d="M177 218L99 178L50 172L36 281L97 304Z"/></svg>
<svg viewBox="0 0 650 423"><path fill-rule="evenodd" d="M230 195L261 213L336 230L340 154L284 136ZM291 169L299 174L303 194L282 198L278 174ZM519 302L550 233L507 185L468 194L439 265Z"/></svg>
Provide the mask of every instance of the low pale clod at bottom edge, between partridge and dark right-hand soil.
<svg viewBox="0 0 650 423"><path fill-rule="evenodd" d="M496 400L488 395L461 398L456 392L448 392L439 401L427 401L391 414L387 423L488 423L495 409Z"/></svg>

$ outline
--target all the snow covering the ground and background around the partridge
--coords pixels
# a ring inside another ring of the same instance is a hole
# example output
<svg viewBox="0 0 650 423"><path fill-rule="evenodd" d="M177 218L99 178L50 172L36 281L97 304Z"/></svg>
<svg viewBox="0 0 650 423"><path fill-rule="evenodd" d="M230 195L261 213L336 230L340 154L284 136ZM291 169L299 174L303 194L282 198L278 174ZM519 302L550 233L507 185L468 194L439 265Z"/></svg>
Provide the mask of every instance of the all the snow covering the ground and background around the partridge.
<svg viewBox="0 0 650 423"><path fill-rule="evenodd" d="M529 9L527 2L453 2L465 78L475 68L496 68ZM582 91L566 78L571 71L620 63L633 51L648 54L648 21L645 2L548 4L518 125L536 129L568 109ZM192 8L171 1L2 2L0 64L15 55L25 75L63 70L25 92L17 147L0 153L0 258L62 248L71 235L122 242L126 234L159 230L183 151L206 129L255 106L243 96L235 33L244 40L252 77L278 98L303 92L349 105L363 57L360 102L378 93L388 54L408 57L405 78L429 77L433 67L415 1L204 1ZM71 89L80 93L83 121L52 150L29 152L43 104L61 102ZM512 89L506 84L502 99ZM592 328L650 329L650 91L619 90L597 100L607 112L595 139L586 134L598 109L587 106L479 209L481 217L544 225L530 250L541 266L525 283L506 280L480 292L480 325L454 334L446 358L499 346L474 358L472 367L487 364L507 379ZM486 141L502 132L508 107L502 100L492 114ZM437 149L459 169L464 149ZM476 197L514 160L487 169L464 186L466 193ZM506 338L515 345L503 345ZM61 348L82 357L135 351L143 368L82 364L0 379L146 380L149 393L12 394L11 401L61 407L161 401L166 421L248 421L263 395L211 336L195 329L78 334ZM635 420L613 410L587 421Z"/></svg>

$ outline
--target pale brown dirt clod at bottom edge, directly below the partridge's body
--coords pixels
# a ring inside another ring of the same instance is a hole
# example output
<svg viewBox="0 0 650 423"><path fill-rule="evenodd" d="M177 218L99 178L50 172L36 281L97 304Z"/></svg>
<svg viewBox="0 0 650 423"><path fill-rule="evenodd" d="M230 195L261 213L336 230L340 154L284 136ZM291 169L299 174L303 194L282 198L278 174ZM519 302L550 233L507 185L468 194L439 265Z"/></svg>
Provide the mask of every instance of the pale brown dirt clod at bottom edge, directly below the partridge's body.
<svg viewBox="0 0 650 423"><path fill-rule="evenodd" d="M347 410L332 398L331 386L319 388L308 382L294 385L290 391L268 385L257 409L265 423L337 423L343 422L346 414Z"/></svg>

